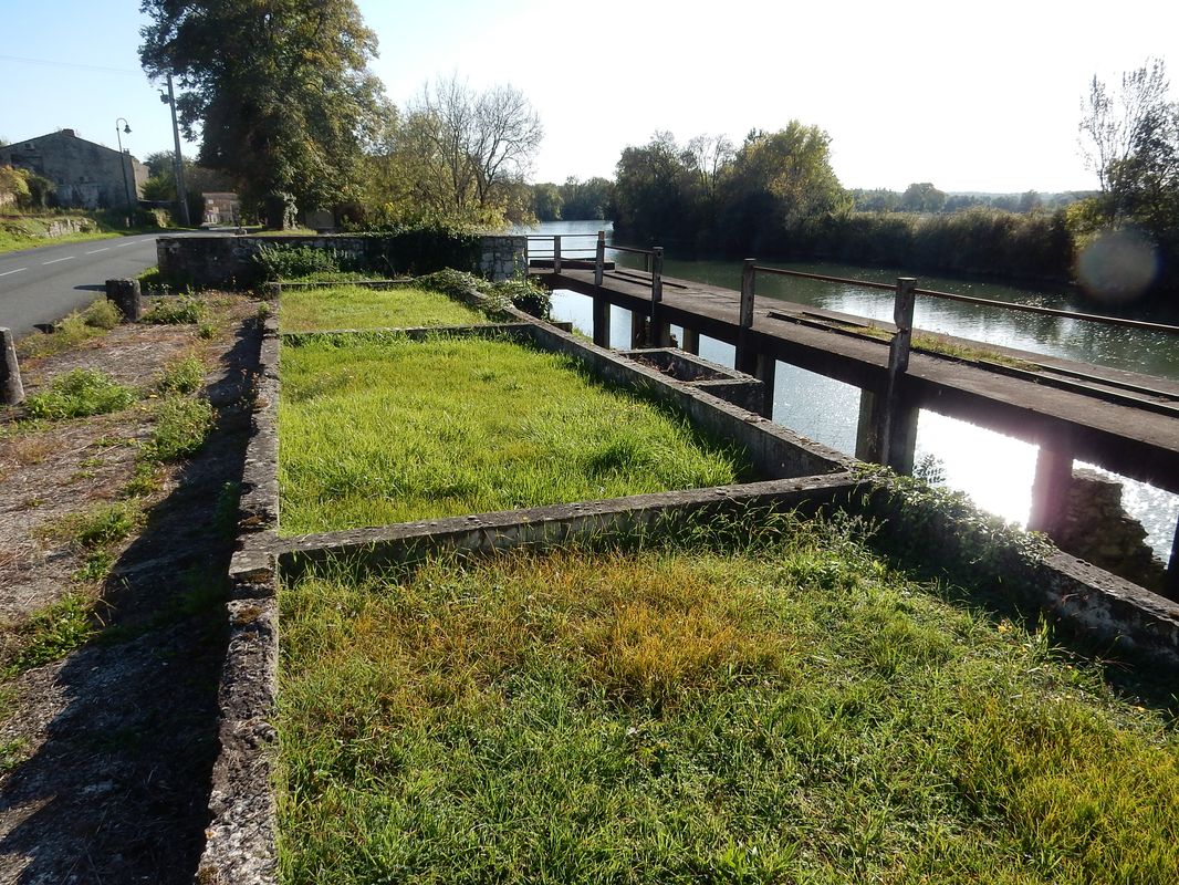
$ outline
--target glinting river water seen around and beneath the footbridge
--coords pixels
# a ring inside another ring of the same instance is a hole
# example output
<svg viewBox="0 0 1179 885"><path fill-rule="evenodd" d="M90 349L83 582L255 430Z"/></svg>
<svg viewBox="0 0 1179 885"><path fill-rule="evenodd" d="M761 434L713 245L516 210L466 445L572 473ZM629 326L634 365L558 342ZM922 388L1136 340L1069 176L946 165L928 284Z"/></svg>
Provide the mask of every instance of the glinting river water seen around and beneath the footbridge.
<svg viewBox="0 0 1179 885"><path fill-rule="evenodd" d="M607 243L612 240L610 222L555 222L538 229L520 231L535 235L562 235L561 251L567 257L592 257L593 237L605 229ZM535 254L551 254L552 243L533 242ZM580 256L575 249L585 249ZM641 256L607 253L607 258L620 266L640 266ZM765 262L769 263L769 262ZM841 276L874 282L896 282L903 271L865 269L851 266L822 263L779 263L790 270ZM681 280L740 288L740 262L680 261L667 258L664 274ZM1014 288L989 282L964 282L934 276L918 276L923 289L951 291L997 301L1017 301L1041 307L1100 313L1082 306L1067 294L1048 290ZM782 297L802 304L839 310L878 321L891 321L893 295L889 291L862 289L841 283L824 283L792 277L759 275L758 297ZM572 321L587 335L592 332L591 300L568 290L553 293L553 314L559 320ZM1172 319L1159 317L1162 322ZM1179 342L1159 333L1125 329L1084 320L983 308L942 299L917 299L914 326L930 332L1013 347L1032 353L1061 356L1079 362L1091 362L1179 381ZM672 327L673 334L680 330ZM627 347L630 314L613 309L611 345ZM722 341L700 337L700 355L725 366L733 365L733 348ZM856 425L859 419L859 391L856 387L816 375L805 369L777 365L775 381L773 420L818 442L852 454ZM1036 447L1010 437L966 421L922 411L917 424L917 461L926 457L936 459L944 476L943 485L963 491L982 509L1009 522L1025 525L1032 505L1032 479L1035 472ZM1078 464L1078 466L1092 466ZM1107 472L1107 471L1101 471ZM1124 503L1132 516L1141 520L1148 532L1147 542L1155 555L1167 560L1179 519L1179 496L1119 477L1125 492Z"/></svg>

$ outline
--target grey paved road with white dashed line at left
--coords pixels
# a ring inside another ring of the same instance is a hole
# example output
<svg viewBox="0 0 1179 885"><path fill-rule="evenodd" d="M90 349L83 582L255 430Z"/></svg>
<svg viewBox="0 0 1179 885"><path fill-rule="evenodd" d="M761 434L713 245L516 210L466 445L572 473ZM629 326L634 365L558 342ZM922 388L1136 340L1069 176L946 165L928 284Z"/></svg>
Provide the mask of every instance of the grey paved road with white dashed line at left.
<svg viewBox="0 0 1179 885"><path fill-rule="evenodd" d="M17 337L60 320L106 291L106 281L156 266L157 234L0 254L0 326Z"/></svg>

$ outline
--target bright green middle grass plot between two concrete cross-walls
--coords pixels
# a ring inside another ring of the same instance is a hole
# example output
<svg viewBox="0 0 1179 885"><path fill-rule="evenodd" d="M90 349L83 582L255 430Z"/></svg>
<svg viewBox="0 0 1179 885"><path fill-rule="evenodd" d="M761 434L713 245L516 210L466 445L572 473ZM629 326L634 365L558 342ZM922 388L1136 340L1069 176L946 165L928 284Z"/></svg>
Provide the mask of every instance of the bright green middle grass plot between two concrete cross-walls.
<svg viewBox="0 0 1179 885"><path fill-rule="evenodd" d="M336 346L338 343L338 346ZM723 485L742 457L506 341L331 339L281 356L282 531Z"/></svg>

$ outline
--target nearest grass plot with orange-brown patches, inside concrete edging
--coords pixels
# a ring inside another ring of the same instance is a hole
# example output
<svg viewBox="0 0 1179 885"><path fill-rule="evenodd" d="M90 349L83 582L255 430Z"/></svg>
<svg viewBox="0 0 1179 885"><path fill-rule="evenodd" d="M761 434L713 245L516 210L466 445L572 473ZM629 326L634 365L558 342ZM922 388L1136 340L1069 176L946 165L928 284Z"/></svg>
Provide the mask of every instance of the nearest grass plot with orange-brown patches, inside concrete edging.
<svg viewBox="0 0 1179 885"><path fill-rule="evenodd" d="M1165 715L776 529L283 588L282 880L1179 881Z"/></svg>

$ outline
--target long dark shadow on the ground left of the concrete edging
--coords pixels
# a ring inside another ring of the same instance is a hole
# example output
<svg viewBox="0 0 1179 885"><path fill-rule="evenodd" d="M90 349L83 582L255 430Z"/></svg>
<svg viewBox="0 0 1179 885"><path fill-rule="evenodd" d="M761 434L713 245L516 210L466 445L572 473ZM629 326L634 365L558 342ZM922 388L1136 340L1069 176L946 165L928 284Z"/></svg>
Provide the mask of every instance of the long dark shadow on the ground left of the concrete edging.
<svg viewBox="0 0 1179 885"><path fill-rule="evenodd" d="M17 821L0 838L5 881L193 880L219 747L233 549L233 531L211 514L242 477L258 341L251 322L223 356L208 388L218 428L120 556L101 629L31 674L60 712L0 793L0 814Z"/></svg>

